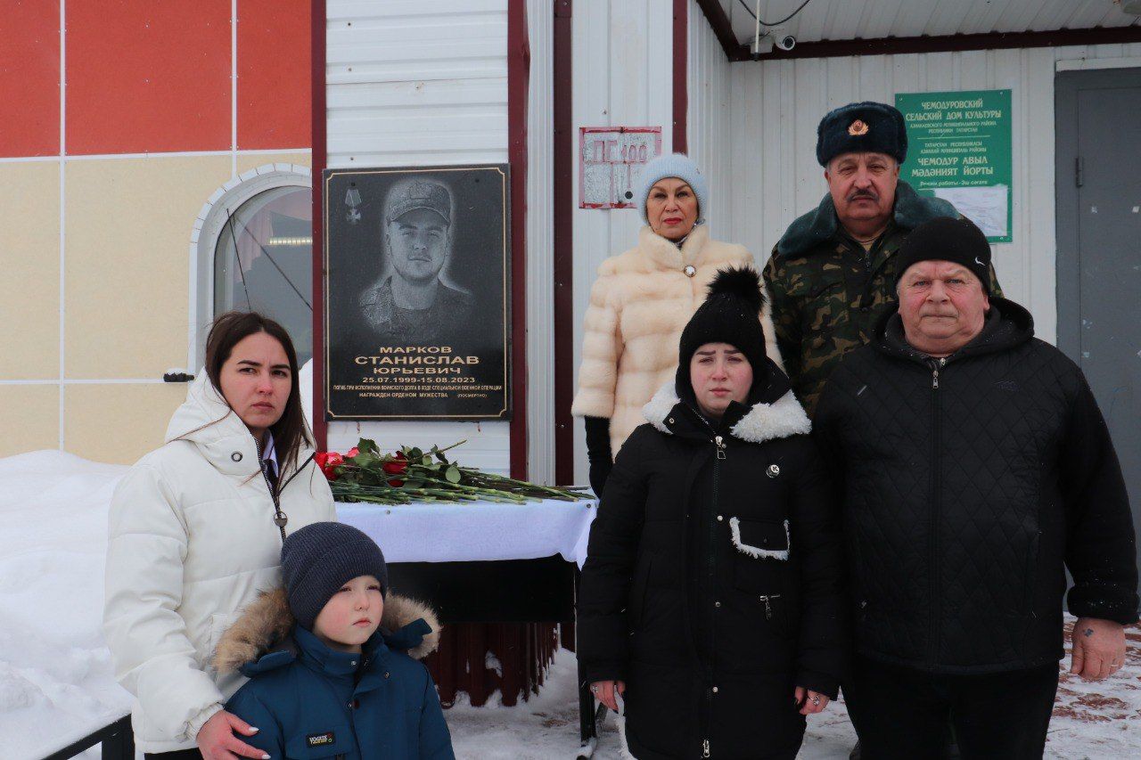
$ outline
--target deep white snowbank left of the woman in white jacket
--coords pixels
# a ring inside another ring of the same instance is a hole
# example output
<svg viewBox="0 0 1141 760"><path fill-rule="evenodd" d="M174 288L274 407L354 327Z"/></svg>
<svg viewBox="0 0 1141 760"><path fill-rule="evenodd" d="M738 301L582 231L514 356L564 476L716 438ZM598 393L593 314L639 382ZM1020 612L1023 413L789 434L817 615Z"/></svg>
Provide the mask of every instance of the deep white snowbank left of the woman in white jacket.
<svg viewBox="0 0 1141 760"><path fill-rule="evenodd" d="M107 506L126 467L0 459L0 737L42 758L130 710L99 634Z"/></svg>

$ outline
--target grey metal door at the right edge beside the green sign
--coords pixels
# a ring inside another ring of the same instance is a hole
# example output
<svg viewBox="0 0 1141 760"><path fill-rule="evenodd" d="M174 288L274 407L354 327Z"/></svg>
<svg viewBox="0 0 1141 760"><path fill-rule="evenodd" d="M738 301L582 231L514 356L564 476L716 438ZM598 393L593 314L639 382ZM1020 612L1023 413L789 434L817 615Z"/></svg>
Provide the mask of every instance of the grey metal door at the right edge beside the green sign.
<svg viewBox="0 0 1141 760"><path fill-rule="evenodd" d="M1093 388L1141 526L1141 68L1059 74L1057 122L1058 347Z"/></svg>

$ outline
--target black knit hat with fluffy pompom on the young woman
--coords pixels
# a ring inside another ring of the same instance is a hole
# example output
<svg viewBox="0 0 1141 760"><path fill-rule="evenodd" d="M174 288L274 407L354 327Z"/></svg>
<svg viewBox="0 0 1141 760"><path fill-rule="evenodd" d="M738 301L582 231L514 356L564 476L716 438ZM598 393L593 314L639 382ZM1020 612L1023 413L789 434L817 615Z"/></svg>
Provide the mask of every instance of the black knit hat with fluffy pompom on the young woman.
<svg viewBox="0 0 1141 760"><path fill-rule="evenodd" d="M752 267L722 269L710 283L710 294L681 331L675 388L682 398L689 391L689 362L705 343L729 343L748 359L753 372L764 365L761 309L764 290ZM691 391L689 391L691 393Z"/></svg>

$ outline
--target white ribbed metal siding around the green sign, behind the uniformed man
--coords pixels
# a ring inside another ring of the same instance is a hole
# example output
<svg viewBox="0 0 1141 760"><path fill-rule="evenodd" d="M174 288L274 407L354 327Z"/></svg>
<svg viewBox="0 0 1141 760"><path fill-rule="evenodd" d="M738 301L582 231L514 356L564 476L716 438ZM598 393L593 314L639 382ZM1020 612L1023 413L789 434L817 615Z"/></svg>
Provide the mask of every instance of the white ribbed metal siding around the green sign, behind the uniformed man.
<svg viewBox="0 0 1141 760"><path fill-rule="evenodd" d="M819 203L827 186L816 163L816 127L828 110L893 103L896 92L1010 88L1014 240L993 246L995 267L1004 292L1030 309L1037 334L1053 342L1054 71L1059 60L1095 58L1141 66L1141 45L731 64L733 229L725 237L763 262L788 224Z"/></svg>

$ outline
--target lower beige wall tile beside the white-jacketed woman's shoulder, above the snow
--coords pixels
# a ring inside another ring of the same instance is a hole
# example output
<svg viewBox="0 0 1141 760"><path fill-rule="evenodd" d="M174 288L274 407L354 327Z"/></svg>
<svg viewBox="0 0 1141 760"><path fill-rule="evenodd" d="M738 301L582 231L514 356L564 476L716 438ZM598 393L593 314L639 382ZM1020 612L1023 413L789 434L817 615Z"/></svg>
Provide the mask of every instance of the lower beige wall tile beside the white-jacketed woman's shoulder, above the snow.
<svg viewBox="0 0 1141 760"><path fill-rule="evenodd" d="M64 448L97 462L132 464L162 445L186 383L71 385L64 390Z"/></svg>

